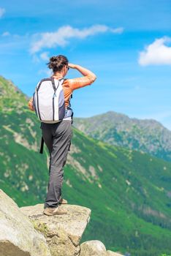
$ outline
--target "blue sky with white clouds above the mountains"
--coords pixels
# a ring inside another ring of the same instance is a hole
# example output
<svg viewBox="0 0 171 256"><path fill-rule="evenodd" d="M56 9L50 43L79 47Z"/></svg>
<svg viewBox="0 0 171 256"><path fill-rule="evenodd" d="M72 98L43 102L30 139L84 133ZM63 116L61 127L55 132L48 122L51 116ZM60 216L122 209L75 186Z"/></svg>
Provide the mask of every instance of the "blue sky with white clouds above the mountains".
<svg viewBox="0 0 171 256"><path fill-rule="evenodd" d="M74 92L75 116L113 110L171 129L170 0L1 0L0 75L31 97L58 54L97 76Z"/></svg>

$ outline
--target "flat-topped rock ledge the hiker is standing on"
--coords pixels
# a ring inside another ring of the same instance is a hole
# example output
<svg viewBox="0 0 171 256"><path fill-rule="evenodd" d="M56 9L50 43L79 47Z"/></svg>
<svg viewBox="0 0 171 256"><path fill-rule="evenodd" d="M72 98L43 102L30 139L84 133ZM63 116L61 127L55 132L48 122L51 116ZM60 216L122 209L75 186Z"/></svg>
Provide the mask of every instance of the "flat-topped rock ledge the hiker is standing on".
<svg viewBox="0 0 171 256"><path fill-rule="evenodd" d="M89 222L91 210L83 206L64 205L64 215L46 216L44 204L20 208L33 222L34 227L45 235L52 256L77 256L80 239Z"/></svg>

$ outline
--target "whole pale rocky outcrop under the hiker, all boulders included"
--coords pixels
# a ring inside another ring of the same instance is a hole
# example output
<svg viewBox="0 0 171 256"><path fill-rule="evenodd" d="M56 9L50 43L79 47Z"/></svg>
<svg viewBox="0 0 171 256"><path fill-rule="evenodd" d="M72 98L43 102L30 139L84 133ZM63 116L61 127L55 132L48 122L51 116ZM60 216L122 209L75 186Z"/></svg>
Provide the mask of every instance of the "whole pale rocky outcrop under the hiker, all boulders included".
<svg viewBox="0 0 171 256"><path fill-rule="evenodd" d="M68 214L46 216L43 204L18 208L0 189L1 256L117 256L101 241L80 244L91 210L65 205Z"/></svg>

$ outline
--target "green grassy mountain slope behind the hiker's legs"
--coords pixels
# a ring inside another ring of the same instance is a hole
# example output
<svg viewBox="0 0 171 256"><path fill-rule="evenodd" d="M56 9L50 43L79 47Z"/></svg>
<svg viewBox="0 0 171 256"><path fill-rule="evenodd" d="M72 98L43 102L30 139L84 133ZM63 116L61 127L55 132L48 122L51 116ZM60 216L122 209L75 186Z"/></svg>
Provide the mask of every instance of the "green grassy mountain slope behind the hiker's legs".
<svg viewBox="0 0 171 256"><path fill-rule="evenodd" d="M0 188L20 207L44 203L49 157L46 147L39 154L39 121L9 80L0 78L0 94ZM170 162L73 129L63 195L92 210L82 242L131 256L170 254L170 181Z"/></svg>

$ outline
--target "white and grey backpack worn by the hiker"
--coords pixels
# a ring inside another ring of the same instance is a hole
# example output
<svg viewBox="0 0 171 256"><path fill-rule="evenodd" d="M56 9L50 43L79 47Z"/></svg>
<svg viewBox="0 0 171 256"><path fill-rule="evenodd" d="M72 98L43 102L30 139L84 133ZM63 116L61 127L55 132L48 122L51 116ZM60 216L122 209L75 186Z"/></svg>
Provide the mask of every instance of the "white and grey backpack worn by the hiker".
<svg viewBox="0 0 171 256"><path fill-rule="evenodd" d="M45 78L37 84L33 102L39 121L53 124L64 118L66 110L62 83L64 78Z"/></svg>

